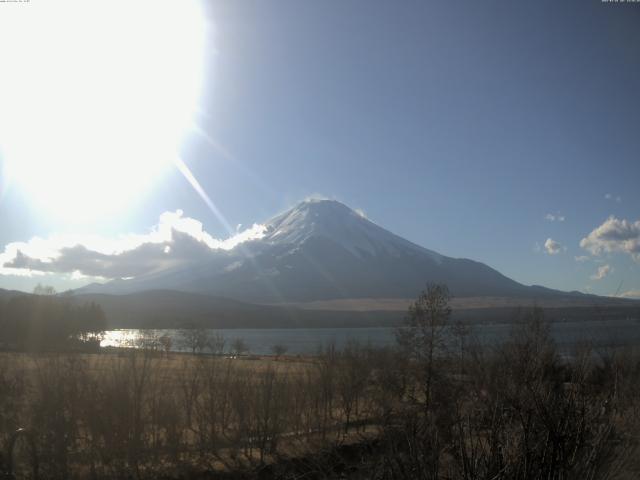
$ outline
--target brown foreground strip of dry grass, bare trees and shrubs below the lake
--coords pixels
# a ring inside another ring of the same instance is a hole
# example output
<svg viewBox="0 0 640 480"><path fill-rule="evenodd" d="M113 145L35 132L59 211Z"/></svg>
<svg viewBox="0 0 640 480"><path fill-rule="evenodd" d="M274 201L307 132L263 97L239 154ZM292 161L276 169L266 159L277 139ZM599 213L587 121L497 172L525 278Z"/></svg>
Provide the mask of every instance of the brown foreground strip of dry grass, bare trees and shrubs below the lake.
<svg viewBox="0 0 640 480"><path fill-rule="evenodd" d="M1 440L51 479L637 477L640 356L562 358L536 310L483 348L449 313L433 286L397 348L313 358L2 354Z"/></svg>

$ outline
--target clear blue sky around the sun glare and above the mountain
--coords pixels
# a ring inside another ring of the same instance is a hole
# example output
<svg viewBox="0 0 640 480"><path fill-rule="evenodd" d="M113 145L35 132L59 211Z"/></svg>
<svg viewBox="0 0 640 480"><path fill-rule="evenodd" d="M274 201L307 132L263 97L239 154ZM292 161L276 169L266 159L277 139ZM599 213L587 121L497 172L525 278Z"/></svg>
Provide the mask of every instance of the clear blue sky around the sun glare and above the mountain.
<svg viewBox="0 0 640 480"><path fill-rule="evenodd" d="M181 153L229 225L321 194L525 284L640 291L629 246L640 229L640 5L282 0L203 11L196 123L216 146L192 133ZM34 236L145 233L177 209L228 236L177 169L125 210L82 221L3 188L0 252ZM581 247L610 216L618 223L605 229L625 230L627 243L595 235ZM0 288L41 281L83 280L0 275Z"/></svg>

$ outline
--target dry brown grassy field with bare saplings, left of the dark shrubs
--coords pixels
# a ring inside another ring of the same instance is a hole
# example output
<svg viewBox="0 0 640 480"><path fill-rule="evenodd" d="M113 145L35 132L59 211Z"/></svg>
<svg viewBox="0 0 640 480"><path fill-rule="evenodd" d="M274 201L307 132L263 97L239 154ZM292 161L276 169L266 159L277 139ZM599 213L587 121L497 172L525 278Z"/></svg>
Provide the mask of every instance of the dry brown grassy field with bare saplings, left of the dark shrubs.
<svg viewBox="0 0 640 480"><path fill-rule="evenodd" d="M29 429L46 478L250 470L370 436L364 390L347 394L345 379L346 411L327 368L287 356L1 353L0 436Z"/></svg>

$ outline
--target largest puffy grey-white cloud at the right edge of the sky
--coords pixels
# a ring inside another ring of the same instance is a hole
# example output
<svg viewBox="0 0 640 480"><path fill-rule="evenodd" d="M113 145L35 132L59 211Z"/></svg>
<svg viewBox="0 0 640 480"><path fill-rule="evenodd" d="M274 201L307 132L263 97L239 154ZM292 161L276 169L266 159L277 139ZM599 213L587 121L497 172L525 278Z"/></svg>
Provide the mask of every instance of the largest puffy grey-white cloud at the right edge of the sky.
<svg viewBox="0 0 640 480"><path fill-rule="evenodd" d="M580 240L580 246L592 255L620 252L640 261L640 220L630 222L612 215Z"/></svg>

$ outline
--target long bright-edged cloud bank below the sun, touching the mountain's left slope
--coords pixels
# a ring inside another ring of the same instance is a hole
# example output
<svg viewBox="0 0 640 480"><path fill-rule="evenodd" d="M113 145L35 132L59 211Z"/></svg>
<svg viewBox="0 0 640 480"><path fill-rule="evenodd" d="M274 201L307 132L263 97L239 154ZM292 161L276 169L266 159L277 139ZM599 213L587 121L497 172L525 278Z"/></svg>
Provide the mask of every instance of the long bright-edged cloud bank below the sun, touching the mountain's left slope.
<svg viewBox="0 0 640 480"><path fill-rule="evenodd" d="M168 268L199 264L216 253L261 238L265 227L254 225L219 240L202 223L181 210L165 212L147 234L115 239L96 236L52 236L7 245L0 253L0 275L32 276L67 273L73 278L128 278Z"/></svg>

